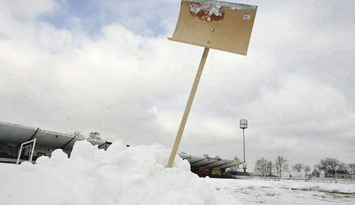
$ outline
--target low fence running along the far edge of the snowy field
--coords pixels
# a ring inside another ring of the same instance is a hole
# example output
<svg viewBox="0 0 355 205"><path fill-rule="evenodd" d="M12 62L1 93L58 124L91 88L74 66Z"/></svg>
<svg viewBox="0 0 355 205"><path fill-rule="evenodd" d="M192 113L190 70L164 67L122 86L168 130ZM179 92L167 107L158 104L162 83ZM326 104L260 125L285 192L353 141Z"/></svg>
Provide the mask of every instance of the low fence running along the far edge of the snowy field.
<svg viewBox="0 0 355 205"><path fill-rule="evenodd" d="M251 177L251 176L233 176L237 179L260 180L260 181L294 181L294 182L321 182L321 183L339 183L355 184L355 179L334 179L328 177Z"/></svg>

